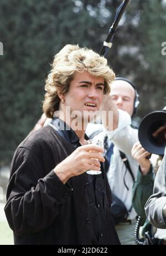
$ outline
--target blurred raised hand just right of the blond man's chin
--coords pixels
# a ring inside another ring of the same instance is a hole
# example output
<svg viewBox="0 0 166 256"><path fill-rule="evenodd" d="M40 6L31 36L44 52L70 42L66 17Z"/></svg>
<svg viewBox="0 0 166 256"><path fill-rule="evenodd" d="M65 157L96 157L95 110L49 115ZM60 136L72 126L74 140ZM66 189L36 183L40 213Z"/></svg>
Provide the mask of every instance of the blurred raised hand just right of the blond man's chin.
<svg viewBox="0 0 166 256"><path fill-rule="evenodd" d="M102 105L100 107L101 111L107 111L106 118L103 118L102 116L102 124L105 126L105 128L108 131L115 130L118 127L118 119L119 119L119 114L118 114L118 109L115 103L113 102L111 95L105 95L102 100ZM113 115L108 115L108 111L112 111ZM109 126L109 119L112 118L111 126Z"/></svg>

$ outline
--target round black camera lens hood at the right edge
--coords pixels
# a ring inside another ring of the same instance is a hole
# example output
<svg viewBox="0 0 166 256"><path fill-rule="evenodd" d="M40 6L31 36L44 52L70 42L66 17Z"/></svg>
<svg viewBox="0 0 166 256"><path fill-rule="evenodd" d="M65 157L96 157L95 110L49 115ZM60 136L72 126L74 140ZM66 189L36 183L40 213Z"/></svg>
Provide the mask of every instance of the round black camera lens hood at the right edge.
<svg viewBox="0 0 166 256"><path fill-rule="evenodd" d="M162 111L154 111L145 116L138 129L141 145L148 152L164 155L166 146L166 107Z"/></svg>

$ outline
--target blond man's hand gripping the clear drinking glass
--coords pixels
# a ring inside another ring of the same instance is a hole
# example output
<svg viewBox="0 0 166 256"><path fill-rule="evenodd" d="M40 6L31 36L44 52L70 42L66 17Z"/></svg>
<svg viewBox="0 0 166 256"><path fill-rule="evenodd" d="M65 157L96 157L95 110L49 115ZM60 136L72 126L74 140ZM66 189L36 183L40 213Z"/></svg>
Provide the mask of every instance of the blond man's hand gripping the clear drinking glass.
<svg viewBox="0 0 166 256"><path fill-rule="evenodd" d="M80 146L54 168L55 174L65 184L72 176L78 176L87 170L100 171L99 161L105 161L102 153L102 147L94 144Z"/></svg>

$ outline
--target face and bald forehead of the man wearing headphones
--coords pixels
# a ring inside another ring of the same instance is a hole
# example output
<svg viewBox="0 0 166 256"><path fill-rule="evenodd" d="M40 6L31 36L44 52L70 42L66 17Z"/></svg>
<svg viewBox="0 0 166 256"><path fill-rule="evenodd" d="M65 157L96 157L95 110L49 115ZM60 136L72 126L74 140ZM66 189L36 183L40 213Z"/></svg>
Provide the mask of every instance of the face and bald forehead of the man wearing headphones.
<svg viewBox="0 0 166 256"><path fill-rule="evenodd" d="M126 81L116 80L112 83L110 95L118 109L133 114L135 92L134 88Z"/></svg>

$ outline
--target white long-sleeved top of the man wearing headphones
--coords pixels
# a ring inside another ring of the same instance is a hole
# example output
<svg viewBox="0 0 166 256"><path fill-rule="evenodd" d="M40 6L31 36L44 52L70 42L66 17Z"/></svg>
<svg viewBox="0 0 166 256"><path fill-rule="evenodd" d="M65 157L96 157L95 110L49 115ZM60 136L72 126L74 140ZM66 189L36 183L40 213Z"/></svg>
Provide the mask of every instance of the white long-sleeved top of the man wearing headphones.
<svg viewBox="0 0 166 256"><path fill-rule="evenodd" d="M115 194L118 198L120 198L125 204L126 208L129 210L132 205L132 186L133 179L129 171L126 172L126 166L123 163L120 151L125 153L127 156L129 165L131 166L134 177L137 176L138 171L138 163L133 159L131 155L131 149L133 144L138 141L138 130L133 129L131 125L131 117L127 112L118 110L119 112L119 122L118 127L114 131L107 131L101 124L89 124L86 129L86 134L91 138L93 134L96 135L94 137L103 140L105 135L107 134L113 144L115 144L113 148L113 155L111 156L111 164L110 168L107 172L108 182L110 184L112 193ZM99 133L97 134L97 129ZM126 173L126 175L125 175ZM123 179L125 178L125 183L129 190L127 190ZM128 219L134 219L136 217L136 211L132 208L131 213L128 216Z"/></svg>

